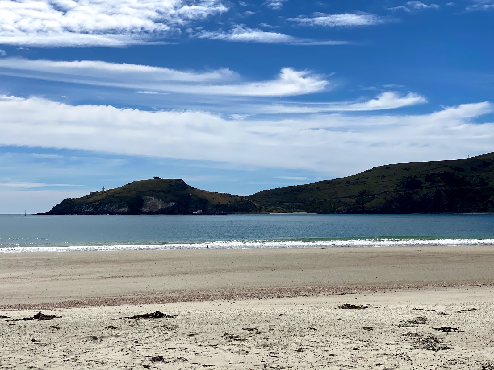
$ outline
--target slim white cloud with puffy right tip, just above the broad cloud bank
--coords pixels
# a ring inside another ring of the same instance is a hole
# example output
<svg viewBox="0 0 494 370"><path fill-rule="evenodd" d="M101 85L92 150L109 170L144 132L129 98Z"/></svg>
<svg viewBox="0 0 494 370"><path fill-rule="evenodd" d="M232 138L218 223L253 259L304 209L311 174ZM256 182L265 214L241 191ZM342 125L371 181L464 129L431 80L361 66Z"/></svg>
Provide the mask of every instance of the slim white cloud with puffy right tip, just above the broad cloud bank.
<svg viewBox="0 0 494 370"><path fill-rule="evenodd" d="M259 109L265 113L320 113L341 111L381 111L417 104L427 103L427 99L416 93L400 96L396 92L384 92L375 99L364 102L333 102L333 103L293 103L284 105L263 106Z"/></svg>

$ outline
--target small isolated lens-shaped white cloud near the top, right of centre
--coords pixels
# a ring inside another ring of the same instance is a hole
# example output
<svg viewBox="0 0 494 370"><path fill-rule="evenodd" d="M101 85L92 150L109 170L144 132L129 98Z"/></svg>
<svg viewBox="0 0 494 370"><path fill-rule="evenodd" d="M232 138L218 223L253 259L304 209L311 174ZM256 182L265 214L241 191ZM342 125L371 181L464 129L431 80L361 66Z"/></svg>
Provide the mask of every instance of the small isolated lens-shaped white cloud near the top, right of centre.
<svg viewBox="0 0 494 370"><path fill-rule="evenodd" d="M356 27L372 26L389 21L388 18L368 13L326 14L314 13L312 17L287 18L302 26Z"/></svg>

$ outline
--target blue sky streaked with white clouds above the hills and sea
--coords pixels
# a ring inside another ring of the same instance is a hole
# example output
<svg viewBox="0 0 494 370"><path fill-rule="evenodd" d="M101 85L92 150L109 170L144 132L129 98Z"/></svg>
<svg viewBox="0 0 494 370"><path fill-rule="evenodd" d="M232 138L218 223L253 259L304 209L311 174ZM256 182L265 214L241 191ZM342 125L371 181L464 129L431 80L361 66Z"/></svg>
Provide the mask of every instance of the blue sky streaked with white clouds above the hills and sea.
<svg viewBox="0 0 494 370"><path fill-rule="evenodd" d="M0 213L494 151L494 0L0 0Z"/></svg>

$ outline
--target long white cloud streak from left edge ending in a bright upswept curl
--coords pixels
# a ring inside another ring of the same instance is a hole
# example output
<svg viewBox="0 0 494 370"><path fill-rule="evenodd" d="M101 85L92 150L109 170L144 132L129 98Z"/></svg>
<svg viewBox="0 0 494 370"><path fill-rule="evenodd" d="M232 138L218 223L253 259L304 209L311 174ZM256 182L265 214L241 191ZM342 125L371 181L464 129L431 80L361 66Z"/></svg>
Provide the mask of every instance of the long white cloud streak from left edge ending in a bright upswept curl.
<svg viewBox="0 0 494 370"><path fill-rule="evenodd" d="M269 81L229 83L239 76L228 69L196 73L102 61L58 62L17 58L1 59L0 74L132 88L139 89L141 94L175 92L198 95L290 96L322 91L329 84L320 75L291 68L282 69L277 78Z"/></svg>

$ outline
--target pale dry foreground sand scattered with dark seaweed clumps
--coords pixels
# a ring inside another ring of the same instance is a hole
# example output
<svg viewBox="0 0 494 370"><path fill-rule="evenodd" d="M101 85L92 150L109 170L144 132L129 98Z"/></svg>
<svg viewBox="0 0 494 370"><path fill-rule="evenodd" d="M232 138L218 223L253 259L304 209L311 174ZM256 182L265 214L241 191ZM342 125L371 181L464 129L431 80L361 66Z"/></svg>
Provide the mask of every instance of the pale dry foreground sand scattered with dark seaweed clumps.
<svg viewBox="0 0 494 370"><path fill-rule="evenodd" d="M62 317L1 320L0 368L492 370L493 298L491 288L468 287L52 309L44 313ZM335 309L346 302L372 307ZM471 308L477 310L458 312ZM156 310L178 316L111 320ZM12 318L35 313L0 312ZM416 323L404 327L405 321ZM119 329L105 329L111 325Z"/></svg>

